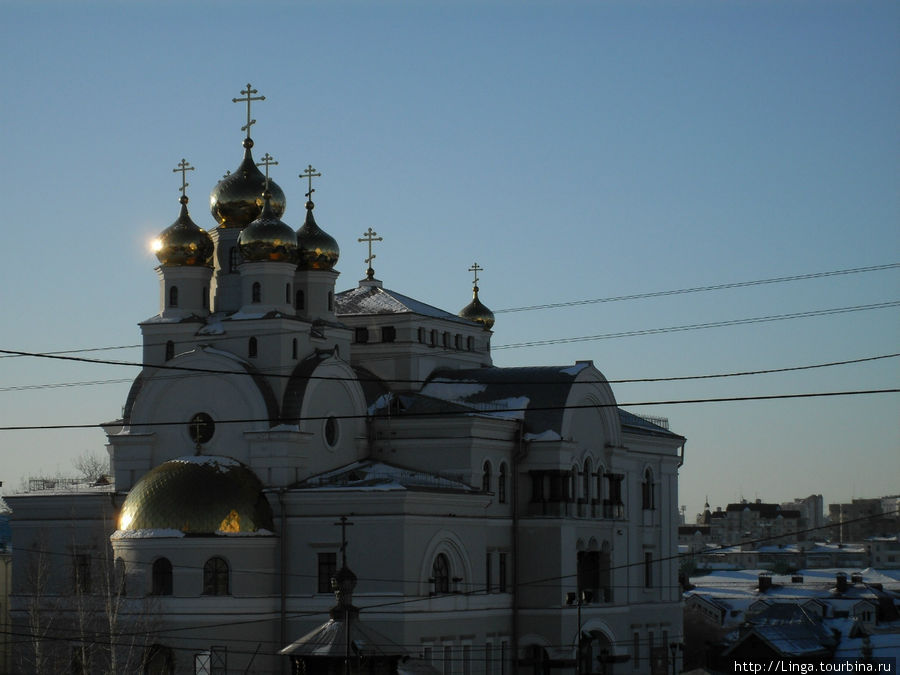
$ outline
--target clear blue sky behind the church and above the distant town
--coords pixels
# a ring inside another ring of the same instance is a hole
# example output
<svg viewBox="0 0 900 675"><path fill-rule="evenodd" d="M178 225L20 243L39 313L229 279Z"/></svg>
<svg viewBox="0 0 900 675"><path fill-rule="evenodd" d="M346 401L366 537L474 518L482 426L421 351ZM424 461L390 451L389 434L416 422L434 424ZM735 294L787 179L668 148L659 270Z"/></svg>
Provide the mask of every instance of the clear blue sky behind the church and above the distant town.
<svg viewBox="0 0 900 675"><path fill-rule="evenodd" d="M0 348L132 345L158 311L148 241L240 161L312 164L339 289L384 236L388 288L494 310L900 262L896 2L3 2ZM900 270L497 314L494 345L900 299ZM497 349L609 379L889 354L898 309ZM100 352L137 360L137 349ZM118 417L134 369L0 359L0 425ZM614 385L622 403L896 387L900 359ZM897 394L635 406L688 438L689 518L741 496L900 492ZM0 432L4 490L68 473L98 430Z"/></svg>

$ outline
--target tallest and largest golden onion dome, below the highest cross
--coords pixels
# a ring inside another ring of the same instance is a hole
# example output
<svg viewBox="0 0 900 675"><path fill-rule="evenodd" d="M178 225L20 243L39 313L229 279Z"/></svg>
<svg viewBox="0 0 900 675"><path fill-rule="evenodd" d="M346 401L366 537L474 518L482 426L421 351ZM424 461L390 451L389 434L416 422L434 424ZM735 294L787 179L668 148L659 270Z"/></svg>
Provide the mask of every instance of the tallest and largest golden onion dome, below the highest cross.
<svg viewBox="0 0 900 675"><path fill-rule="evenodd" d="M246 227L262 212L260 195L266 189L266 177L253 161L252 147L253 140L245 138L241 165L220 180L209 195L209 210L219 227ZM272 195L272 211L280 218L284 214L284 192L272 180L268 189Z"/></svg>

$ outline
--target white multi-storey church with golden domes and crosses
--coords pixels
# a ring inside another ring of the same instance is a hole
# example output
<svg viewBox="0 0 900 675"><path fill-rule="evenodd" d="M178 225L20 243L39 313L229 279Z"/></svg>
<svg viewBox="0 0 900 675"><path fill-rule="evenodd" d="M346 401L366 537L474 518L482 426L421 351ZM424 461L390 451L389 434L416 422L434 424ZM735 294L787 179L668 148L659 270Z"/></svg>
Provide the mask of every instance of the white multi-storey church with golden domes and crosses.
<svg viewBox="0 0 900 675"><path fill-rule="evenodd" d="M251 154L254 93L213 227L182 187L159 236L109 484L6 497L18 672L344 672L281 653L329 622L342 566L384 636L335 628L353 672L391 672L378 650L401 672L671 671L685 439L590 362L493 366L477 276L458 313L391 290L371 229L340 233L370 258L338 292L318 174L295 230Z"/></svg>

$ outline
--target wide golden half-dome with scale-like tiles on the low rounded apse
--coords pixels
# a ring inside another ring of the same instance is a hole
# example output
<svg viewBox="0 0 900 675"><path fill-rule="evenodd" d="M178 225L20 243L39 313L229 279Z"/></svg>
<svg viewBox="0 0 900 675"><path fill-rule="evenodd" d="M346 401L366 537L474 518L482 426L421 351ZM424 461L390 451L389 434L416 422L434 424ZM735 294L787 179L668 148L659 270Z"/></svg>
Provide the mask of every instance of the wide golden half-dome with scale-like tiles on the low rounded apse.
<svg viewBox="0 0 900 675"><path fill-rule="evenodd" d="M230 457L193 456L151 469L122 504L119 529L217 534L274 530L256 474Z"/></svg>

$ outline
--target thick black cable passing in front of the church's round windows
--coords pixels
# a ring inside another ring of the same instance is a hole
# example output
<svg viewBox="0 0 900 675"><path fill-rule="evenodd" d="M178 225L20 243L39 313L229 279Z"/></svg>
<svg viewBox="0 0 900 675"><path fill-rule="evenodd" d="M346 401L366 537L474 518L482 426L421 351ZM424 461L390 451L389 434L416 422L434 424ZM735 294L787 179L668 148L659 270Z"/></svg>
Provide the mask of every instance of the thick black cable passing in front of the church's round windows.
<svg viewBox="0 0 900 675"><path fill-rule="evenodd" d="M821 392L810 392L810 393L800 393L800 394L768 394L768 395L758 395L758 396L720 396L713 398L695 398L695 399L672 399L665 401L635 401L631 403L590 403L584 405L559 405L559 406L530 406L530 407L520 407L520 408L503 408L502 410L490 411L490 410L480 410L477 408L467 408L465 410L446 410L446 411L434 411L434 412L404 412L402 413L402 417L450 417L450 416L462 416L462 415L487 415L490 416L492 412L502 412L504 415L508 415L509 413L526 413L526 412L535 412L535 411L547 411L547 410L578 410L578 409L596 409L596 408L635 408L639 406L659 406L659 405L686 405L686 404L697 404L697 403L733 403L739 401L776 401L776 400L788 400L788 399L804 399L804 398L828 398L835 396L866 396L866 395L874 395L874 394L896 394L900 392L900 388L896 389L862 389L862 390L852 390L852 391L821 391ZM465 405L464 403L461 405ZM329 418L334 418L337 420L348 420L348 419L368 419L372 417L368 413L354 414L354 415L313 415L308 417L298 417L291 419L281 419L281 420L273 420L268 417L247 417L247 418L237 418L237 419L222 419L215 420L216 424L258 424L263 422L268 423L278 423L278 424L301 424L303 422L309 421L318 421L318 420L327 420ZM157 427L157 426L175 426L186 424L185 420L175 420L175 421L156 421L156 422L141 422L140 424L136 424L138 427ZM0 431L37 431L37 430L48 430L48 429L96 429L98 427L103 427L103 424L31 424L31 425L18 425L18 426L3 426L0 427ZM126 423L126 426L128 424Z"/></svg>

